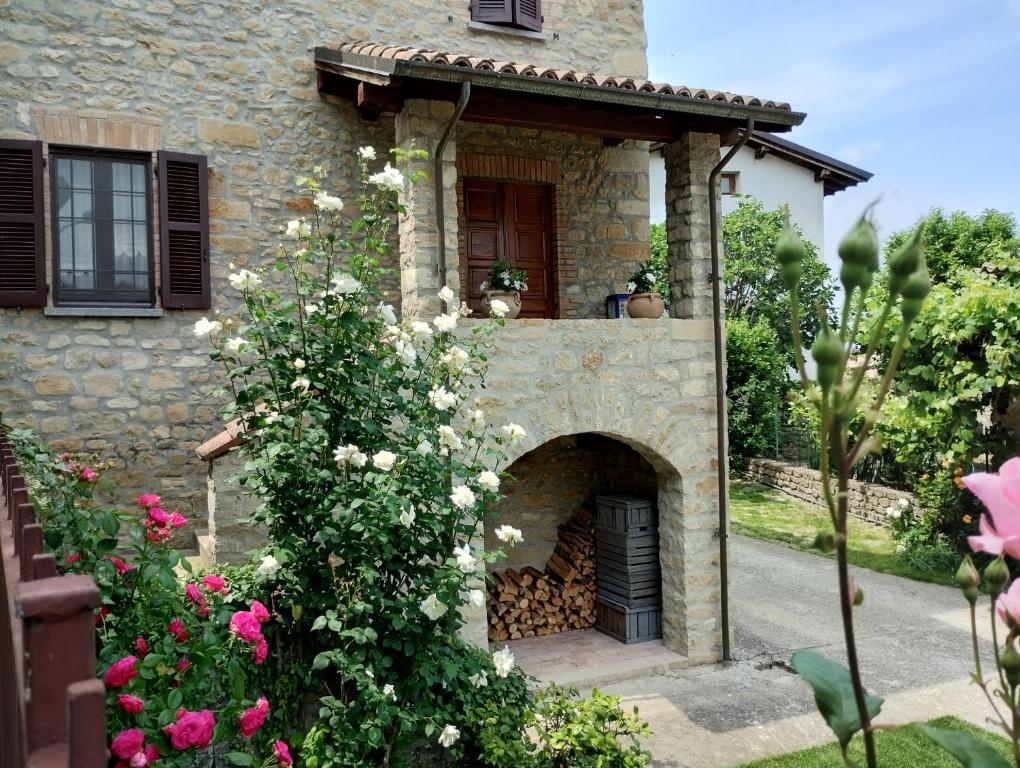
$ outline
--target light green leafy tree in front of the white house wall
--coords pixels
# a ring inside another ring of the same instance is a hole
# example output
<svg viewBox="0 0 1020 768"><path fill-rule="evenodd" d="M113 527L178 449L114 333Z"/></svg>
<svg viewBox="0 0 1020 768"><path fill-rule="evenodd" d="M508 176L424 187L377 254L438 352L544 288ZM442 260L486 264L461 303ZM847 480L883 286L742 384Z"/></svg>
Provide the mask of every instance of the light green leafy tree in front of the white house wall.
<svg viewBox="0 0 1020 768"><path fill-rule="evenodd" d="M793 362L789 292L773 255L785 223L783 210L766 210L760 201L746 198L722 219L722 251L727 321L767 325L784 359ZM831 309L834 287L817 247L805 242L804 250L798 304L803 342L811 345L820 327L815 305Z"/></svg>

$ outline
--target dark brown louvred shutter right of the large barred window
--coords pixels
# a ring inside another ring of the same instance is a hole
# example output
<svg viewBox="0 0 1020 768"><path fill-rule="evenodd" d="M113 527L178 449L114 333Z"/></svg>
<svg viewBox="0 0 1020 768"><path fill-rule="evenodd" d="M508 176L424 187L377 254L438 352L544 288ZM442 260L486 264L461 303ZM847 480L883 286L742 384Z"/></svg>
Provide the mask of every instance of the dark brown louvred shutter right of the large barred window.
<svg viewBox="0 0 1020 768"><path fill-rule="evenodd" d="M159 153L159 256L165 309L208 309L209 201L204 155Z"/></svg>

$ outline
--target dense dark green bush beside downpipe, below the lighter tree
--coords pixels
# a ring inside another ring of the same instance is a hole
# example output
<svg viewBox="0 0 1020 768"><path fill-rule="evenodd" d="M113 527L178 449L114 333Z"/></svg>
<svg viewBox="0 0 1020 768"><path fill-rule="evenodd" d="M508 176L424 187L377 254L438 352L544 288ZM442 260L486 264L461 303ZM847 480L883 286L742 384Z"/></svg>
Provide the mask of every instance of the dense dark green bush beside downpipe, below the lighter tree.
<svg viewBox="0 0 1020 768"><path fill-rule="evenodd" d="M726 400L734 466L774 453L775 416L789 387L786 358L764 323L726 322Z"/></svg>

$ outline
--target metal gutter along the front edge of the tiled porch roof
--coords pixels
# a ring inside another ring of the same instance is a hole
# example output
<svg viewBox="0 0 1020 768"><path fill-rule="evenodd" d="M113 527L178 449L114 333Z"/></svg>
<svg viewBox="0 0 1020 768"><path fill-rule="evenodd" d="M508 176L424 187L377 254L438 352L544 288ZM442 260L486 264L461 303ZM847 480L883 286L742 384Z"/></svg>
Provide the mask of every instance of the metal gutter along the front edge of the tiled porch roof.
<svg viewBox="0 0 1020 768"><path fill-rule="evenodd" d="M321 68L337 74L348 73L349 76L353 78L363 76L365 72L370 72L379 79L388 76L411 78L452 84L466 82L478 88L593 102L602 105L632 107L670 114L694 114L742 120L755 119L759 123L775 125L778 130L800 125L806 116L804 112L795 112L788 109L733 104L726 101L696 99L675 94L607 88L588 83L570 83L551 78L475 69L469 66L388 59L338 51L335 48L316 48L315 61Z"/></svg>

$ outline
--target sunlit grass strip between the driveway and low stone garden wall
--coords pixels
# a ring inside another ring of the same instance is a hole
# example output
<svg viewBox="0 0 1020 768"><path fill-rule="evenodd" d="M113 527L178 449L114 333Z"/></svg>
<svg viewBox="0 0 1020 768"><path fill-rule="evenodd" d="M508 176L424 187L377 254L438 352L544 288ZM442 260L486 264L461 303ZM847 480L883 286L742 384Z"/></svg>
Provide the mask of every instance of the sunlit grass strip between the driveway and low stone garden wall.
<svg viewBox="0 0 1020 768"><path fill-rule="evenodd" d="M729 501L733 532L832 557L811 546L819 530L831 529L828 512L823 507L735 477L730 481ZM936 584L955 583L952 572L922 570L897 556L896 542L886 528L857 518L850 520L849 554L851 564L861 568Z"/></svg>

